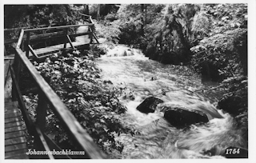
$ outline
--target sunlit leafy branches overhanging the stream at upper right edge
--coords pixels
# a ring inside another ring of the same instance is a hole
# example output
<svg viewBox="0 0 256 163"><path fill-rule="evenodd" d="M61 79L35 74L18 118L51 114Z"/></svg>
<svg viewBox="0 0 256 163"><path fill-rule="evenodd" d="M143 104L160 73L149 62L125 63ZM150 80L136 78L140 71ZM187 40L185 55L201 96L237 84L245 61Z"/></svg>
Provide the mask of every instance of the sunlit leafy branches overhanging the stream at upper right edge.
<svg viewBox="0 0 256 163"><path fill-rule="evenodd" d="M194 67L202 69L202 62L212 64L222 79L246 75L246 5L206 5L201 13L194 18L194 37L201 39L190 49L194 52Z"/></svg>

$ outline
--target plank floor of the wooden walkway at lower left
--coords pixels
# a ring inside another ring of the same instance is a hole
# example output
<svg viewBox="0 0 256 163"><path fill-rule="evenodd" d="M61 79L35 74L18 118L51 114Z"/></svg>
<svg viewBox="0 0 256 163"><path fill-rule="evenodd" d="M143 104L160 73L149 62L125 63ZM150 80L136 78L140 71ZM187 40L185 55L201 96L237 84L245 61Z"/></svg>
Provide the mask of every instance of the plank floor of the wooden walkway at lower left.
<svg viewBox="0 0 256 163"><path fill-rule="evenodd" d="M5 59L5 158L29 159L26 155L26 125L22 120L21 110L18 109L18 102L11 101L10 62L11 60Z"/></svg>

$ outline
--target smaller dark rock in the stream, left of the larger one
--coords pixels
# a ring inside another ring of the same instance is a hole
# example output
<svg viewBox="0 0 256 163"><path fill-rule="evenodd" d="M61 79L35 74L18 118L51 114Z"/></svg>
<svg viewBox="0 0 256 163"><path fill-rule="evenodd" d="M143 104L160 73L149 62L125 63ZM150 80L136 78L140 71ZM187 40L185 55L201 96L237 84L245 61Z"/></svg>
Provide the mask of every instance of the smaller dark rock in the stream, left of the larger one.
<svg viewBox="0 0 256 163"><path fill-rule="evenodd" d="M147 97L136 109L142 113L154 113L157 105L162 103L161 99L156 97Z"/></svg>

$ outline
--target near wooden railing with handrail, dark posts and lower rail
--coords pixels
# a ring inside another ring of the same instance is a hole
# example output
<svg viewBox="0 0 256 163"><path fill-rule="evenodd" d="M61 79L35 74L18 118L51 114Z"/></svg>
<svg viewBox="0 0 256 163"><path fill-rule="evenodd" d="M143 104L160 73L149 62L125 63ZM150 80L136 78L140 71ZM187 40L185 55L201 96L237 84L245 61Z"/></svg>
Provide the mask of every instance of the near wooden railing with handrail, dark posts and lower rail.
<svg viewBox="0 0 256 163"><path fill-rule="evenodd" d="M74 26L93 26L89 25L74 25ZM72 26L72 27L74 27ZM58 28L58 29L67 29L70 26L58 26L58 27L50 27ZM44 129L46 126L46 108L47 105L50 105L50 108L53 110L54 114L58 117L58 120L63 124L63 128L70 135L70 138L75 142L75 145L78 150L85 151L85 158L106 158L105 153L102 153L98 146L94 143L92 137L86 132L85 129L79 124L74 115L70 113L70 110L66 108L66 105L61 101L54 90L50 88L50 85L42 78L39 72L34 68L32 63L28 58L28 51L33 52L33 49L30 46L30 32L35 30L46 30L48 28L40 28L40 29L28 29L21 30L20 36L18 38L17 46L15 48L16 54L14 57L14 64L10 66L11 76L13 78L13 93L12 97L14 101L18 101L20 109L22 111L22 116L26 123L26 128L30 135L34 136L34 149L43 150L43 151L52 151L61 150L58 145L56 145L53 141L50 140L49 137L44 133ZM93 32L93 30L91 31ZM23 52L20 46L22 45L23 36L26 34L26 52ZM70 42L70 41L69 41ZM70 42L71 44L71 42ZM36 54L34 54L36 57ZM34 78L38 86L38 107L36 109L37 117L36 121L32 121L29 116L24 101L22 100L22 94L20 92L18 81L19 74L22 69L27 69L29 73ZM46 155L46 158L54 159L54 158L70 158L69 156L52 156Z"/></svg>

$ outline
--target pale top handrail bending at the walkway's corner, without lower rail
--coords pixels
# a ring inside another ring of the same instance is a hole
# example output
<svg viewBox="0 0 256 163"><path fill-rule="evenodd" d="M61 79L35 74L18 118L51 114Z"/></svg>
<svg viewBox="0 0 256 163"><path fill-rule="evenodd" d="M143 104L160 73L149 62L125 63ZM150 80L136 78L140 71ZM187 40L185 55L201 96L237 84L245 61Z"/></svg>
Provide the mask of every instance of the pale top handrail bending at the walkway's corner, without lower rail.
<svg viewBox="0 0 256 163"><path fill-rule="evenodd" d="M77 26L77 25L73 25ZM79 25L81 26L81 25ZM71 27L71 26L68 26ZM58 27L54 27L58 28ZM61 26L61 28L67 28L67 26ZM40 30L45 30L46 28L41 28ZM39 30L39 29L36 29ZM41 74L39 74L38 70L34 68L29 58L27 58L26 53L23 52L20 48L22 43L22 38L24 36L25 31L33 31L30 30L21 30L20 36L18 38L17 46L16 46L16 54L14 58L14 63L16 61L21 62L22 65L26 66L26 69L30 72L34 81L36 81L39 89L38 93L38 108L37 108L37 119L36 124L39 129L44 130L46 125L46 107L47 103L50 104L51 109L53 109L54 113L58 117L59 121L61 121L70 136L77 142L78 149L82 149L86 152L89 158L106 158L106 155L102 153L98 146L94 143L92 137L86 132L85 129L79 124L74 115L70 113L70 110L66 107L66 105L61 101L54 90L50 88L50 85L42 78ZM18 67L14 69L14 74L18 74L21 69L21 64L18 64ZM18 80L18 79L17 79Z"/></svg>

